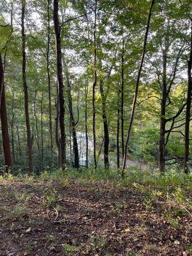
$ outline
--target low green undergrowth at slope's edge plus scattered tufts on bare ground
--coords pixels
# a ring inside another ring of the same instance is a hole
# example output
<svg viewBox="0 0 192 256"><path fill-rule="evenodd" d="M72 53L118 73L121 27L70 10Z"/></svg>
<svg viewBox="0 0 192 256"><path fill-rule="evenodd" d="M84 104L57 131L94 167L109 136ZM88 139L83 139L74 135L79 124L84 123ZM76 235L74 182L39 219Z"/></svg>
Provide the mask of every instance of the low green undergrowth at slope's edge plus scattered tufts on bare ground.
<svg viewBox="0 0 192 256"><path fill-rule="evenodd" d="M161 173L151 173L140 168L129 168L126 170L125 177L122 179L120 170L111 169L107 173L102 169L95 172L93 169L86 170L81 168L75 170L66 168L55 170L54 172L45 171L39 176L5 174L0 176L0 185L20 188L30 185L33 192L36 189L42 191L42 204L45 207L51 207L54 211L60 211L58 201L62 199L61 191L63 189L76 189L79 186L95 198L104 198L111 191L111 200L113 195L122 192L122 202L115 205L117 214L121 214L125 207L124 200L127 193L134 196L133 200L145 205L147 212L155 212L157 205L163 207L161 216L168 221L171 228L177 230L180 227L180 218L192 218L192 175L186 175L179 170L168 170L164 175ZM18 186L19 185L19 186ZM133 193L133 194L132 194ZM17 202L14 211L10 211L10 216L20 218L27 208L20 205L28 205L31 195L24 192L13 193L13 199ZM67 245L63 247L65 252L72 248Z"/></svg>

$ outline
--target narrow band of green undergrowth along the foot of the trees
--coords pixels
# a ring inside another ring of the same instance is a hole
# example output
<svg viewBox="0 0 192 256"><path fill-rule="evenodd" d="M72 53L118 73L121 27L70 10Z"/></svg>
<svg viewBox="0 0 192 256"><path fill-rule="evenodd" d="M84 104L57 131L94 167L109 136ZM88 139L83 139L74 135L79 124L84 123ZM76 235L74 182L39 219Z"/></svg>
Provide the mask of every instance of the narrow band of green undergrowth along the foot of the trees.
<svg viewBox="0 0 192 256"><path fill-rule="evenodd" d="M137 167L131 167L125 172L125 177L122 179L121 170L110 169L108 172L103 169L98 169L97 172L92 168L80 168L76 170L74 168L66 168L65 170L54 170L51 172L47 170L40 173L40 175L19 175L13 176L10 173L5 173L0 176L0 181L20 180L22 182L44 182L46 181L58 181L66 182L76 181L79 184L86 182L100 182L108 183L111 186L119 188L130 188L132 184L140 184L141 186L152 186L153 188L159 188L166 191L172 191L177 188L182 188L185 191L192 191L192 173L189 175L184 174L181 170L170 169L167 170L164 175L159 172L151 173L147 170L140 170Z"/></svg>

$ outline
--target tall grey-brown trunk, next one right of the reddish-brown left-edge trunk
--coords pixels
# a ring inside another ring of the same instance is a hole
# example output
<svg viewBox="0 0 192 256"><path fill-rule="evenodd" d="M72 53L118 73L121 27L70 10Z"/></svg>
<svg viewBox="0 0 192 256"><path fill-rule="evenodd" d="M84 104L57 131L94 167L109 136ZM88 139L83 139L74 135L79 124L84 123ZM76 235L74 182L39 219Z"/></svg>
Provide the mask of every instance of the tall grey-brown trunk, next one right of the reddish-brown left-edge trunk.
<svg viewBox="0 0 192 256"><path fill-rule="evenodd" d="M26 9L26 0L22 0L22 14L21 14L21 28L22 28L22 84L24 88L24 101L26 113L26 127L27 127L27 140L28 140L28 161L29 161L29 174L33 173L32 163L32 147L31 147L31 127L29 120L29 101L28 101L28 85L26 80L26 35L24 28L24 17Z"/></svg>

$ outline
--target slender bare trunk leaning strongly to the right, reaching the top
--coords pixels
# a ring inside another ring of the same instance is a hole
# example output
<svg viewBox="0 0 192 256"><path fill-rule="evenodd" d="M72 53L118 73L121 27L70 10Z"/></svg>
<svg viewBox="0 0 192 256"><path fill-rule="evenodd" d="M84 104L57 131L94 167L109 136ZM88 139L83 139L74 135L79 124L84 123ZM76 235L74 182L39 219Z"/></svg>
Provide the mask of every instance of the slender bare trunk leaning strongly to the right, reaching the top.
<svg viewBox="0 0 192 256"><path fill-rule="evenodd" d="M144 39L144 42L143 42L143 53L142 53L142 56L141 56L140 67L139 67L139 70L138 70L138 77L137 77L137 80L136 80L136 88L135 88L135 92L134 92L134 99L133 99L133 102L132 102L131 120L130 120L130 123L129 123L129 128L128 128L128 131L127 131L127 139L126 139L126 143L125 143L124 162L123 162L123 166L122 166L122 177L124 177L124 170L126 168L127 148L128 148L128 145L129 145L129 138L130 138L130 134L131 134L132 122L133 122L133 119L134 119L134 111L135 111L135 108L136 108L136 101L137 101L137 97L138 97L138 89L139 89L139 84L140 84L141 70L142 70L143 61L144 61L144 58L145 58L145 52L146 52L146 47L147 47L147 38L148 38L148 30L149 30L149 27L150 27L150 18L151 18L151 15L152 15L152 8L154 6L154 2L155 2L155 0L152 0L152 2L150 4L150 10L148 12L147 28L146 28L146 31L145 31L145 39Z"/></svg>

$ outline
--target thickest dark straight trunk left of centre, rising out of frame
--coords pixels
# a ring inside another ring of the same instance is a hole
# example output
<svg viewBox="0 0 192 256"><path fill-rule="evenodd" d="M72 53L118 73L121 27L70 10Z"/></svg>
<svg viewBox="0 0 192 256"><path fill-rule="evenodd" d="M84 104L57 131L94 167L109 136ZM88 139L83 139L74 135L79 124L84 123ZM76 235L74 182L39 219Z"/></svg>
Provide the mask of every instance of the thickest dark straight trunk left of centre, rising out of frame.
<svg viewBox="0 0 192 256"><path fill-rule="evenodd" d="M65 134L65 99L63 95L63 74L61 60L61 29L58 16L59 4L58 0L54 0L54 31L56 36L56 60L57 60L57 76L58 76L58 93L60 99L60 134L61 134L61 167L66 165L66 134Z"/></svg>

